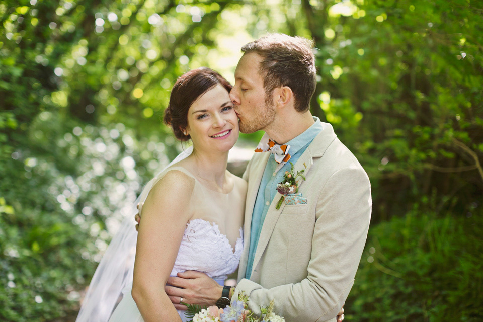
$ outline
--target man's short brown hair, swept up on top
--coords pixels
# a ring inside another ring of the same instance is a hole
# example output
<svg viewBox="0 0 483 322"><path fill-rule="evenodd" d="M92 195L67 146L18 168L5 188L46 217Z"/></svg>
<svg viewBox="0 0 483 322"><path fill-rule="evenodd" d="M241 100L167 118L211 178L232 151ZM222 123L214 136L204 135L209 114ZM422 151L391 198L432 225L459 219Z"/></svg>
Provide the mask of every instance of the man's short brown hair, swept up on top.
<svg viewBox="0 0 483 322"><path fill-rule="evenodd" d="M305 112L316 84L312 48L313 42L308 39L270 34L244 45L241 52L262 56L260 74L266 100L275 88L288 86L294 94L295 110Z"/></svg>

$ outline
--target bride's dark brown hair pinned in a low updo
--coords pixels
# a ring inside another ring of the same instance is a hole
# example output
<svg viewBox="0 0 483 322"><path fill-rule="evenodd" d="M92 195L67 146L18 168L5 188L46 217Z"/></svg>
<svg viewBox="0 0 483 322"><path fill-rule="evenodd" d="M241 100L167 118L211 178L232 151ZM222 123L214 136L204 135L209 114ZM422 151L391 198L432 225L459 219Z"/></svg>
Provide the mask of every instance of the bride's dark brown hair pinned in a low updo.
<svg viewBox="0 0 483 322"><path fill-rule="evenodd" d="M188 110L191 104L218 84L230 92L231 84L218 72L206 67L190 70L178 78L171 90L164 119L166 124L171 125L178 139L187 141L191 138L189 134L183 134L183 129L188 126Z"/></svg>

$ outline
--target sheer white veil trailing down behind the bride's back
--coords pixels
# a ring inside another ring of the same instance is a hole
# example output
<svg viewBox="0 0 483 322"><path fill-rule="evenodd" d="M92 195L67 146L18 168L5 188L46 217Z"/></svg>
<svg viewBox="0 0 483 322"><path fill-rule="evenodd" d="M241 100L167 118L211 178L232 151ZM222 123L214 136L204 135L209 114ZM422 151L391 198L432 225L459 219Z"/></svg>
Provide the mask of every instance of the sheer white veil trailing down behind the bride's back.
<svg viewBox="0 0 483 322"><path fill-rule="evenodd" d="M107 322L118 303L121 290L132 282L134 268L134 255L136 254L137 231L134 228L134 215L138 212L136 205L139 203L139 212L142 204L158 181L158 176L173 164L189 156L193 151L190 146L162 171L160 171L142 190L128 212L121 227L112 238L101 262L99 263L91 283L77 315L76 322Z"/></svg>

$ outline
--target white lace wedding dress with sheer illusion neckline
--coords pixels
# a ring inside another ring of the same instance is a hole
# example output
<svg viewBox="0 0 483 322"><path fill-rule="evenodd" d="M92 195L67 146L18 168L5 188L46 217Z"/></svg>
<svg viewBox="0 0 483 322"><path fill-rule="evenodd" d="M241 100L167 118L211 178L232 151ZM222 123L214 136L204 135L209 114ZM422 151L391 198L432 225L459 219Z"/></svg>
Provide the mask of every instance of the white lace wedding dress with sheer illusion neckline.
<svg viewBox="0 0 483 322"><path fill-rule="evenodd" d="M227 229L227 231L229 230L229 236L227 236L220 232L215 221L219 220L220 215L232 216L234 212L237 212L237 216L239 216L238 212L243 214L247 183L236 177L233 189L224 194L204 187L182 167L171 167L158 178L162 178L164 174L172 170L181 171L195 179L191 204L196 209L194 217L197 218L192 219L186 225L178 256L170 275L176 276L179 272L196 270L206 273L223 285L227 276L238 267L243 249L243 227L238 228L239 234L234 241L233 229ZM152 185L154 184L155 182ZM229 239L232 241L231 244ZM131 296L131 289L132 283L123 289L123 298L115 308L109 322L143 321ZM178 312L183 321L188 321L184 316L184 311Z"/></svg>

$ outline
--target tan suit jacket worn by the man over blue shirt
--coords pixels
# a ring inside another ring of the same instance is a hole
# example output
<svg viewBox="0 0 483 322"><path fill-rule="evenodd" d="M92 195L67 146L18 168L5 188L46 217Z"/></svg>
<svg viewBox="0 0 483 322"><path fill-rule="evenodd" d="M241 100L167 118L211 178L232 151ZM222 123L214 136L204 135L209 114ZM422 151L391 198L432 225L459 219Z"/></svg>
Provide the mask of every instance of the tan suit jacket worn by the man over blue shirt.
<svg viewBox="0 0 483 322"><path fill-rule="evenodd" d="M269 152L255 153L248 181L245 242L250 240L252 211ZM306 167L306 168L305 168ZM275 209L277 192L262 225L250 280L245 279L248 244L241 255L238 285L249 307L275 300L275 312L287 322L335 321L354 283L369 229L371 191L367 174L349 149L324 124L295 164L305 169L299 193L306 205Z"/></svg>

